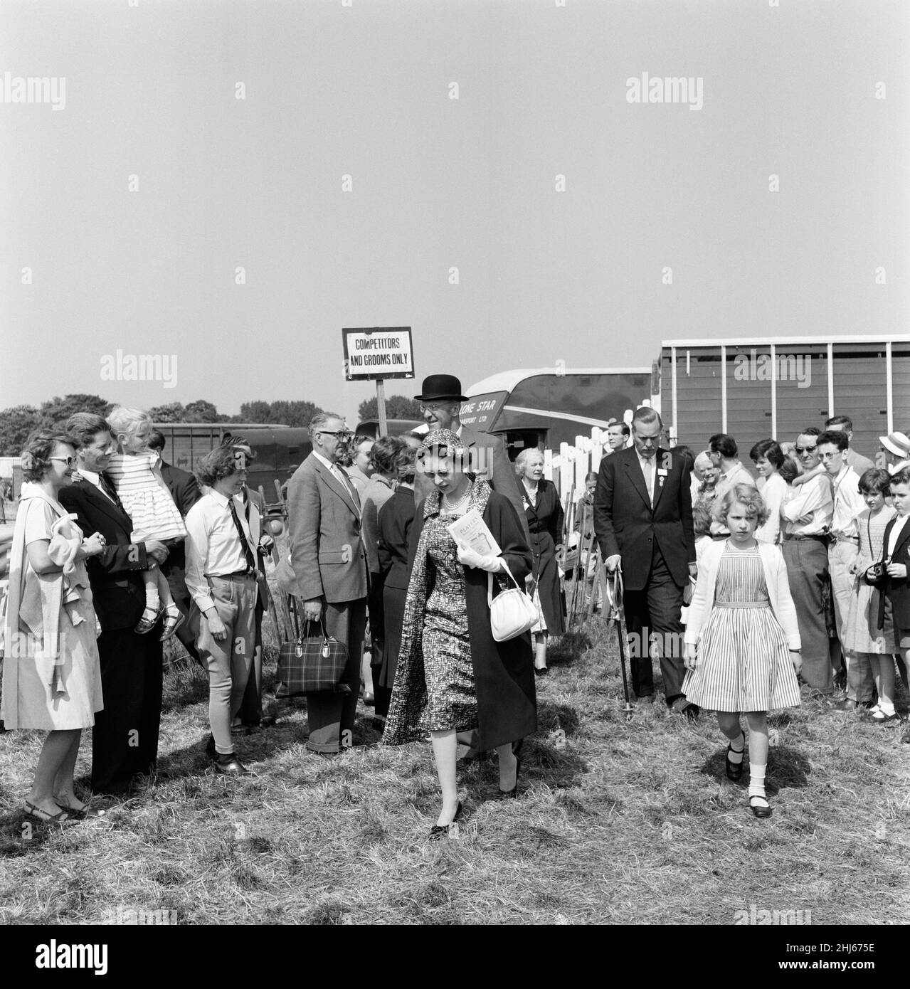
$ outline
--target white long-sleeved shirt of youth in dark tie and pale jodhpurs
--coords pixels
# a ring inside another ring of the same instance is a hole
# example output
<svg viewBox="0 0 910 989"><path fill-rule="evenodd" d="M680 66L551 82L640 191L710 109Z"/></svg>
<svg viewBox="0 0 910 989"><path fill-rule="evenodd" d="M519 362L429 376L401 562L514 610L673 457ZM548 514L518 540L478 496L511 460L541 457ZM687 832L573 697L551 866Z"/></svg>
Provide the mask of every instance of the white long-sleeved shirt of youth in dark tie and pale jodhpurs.
<svg viewBox="0 0 910 989"><path fill-rule="evenodd" d="M253 560L256 547L250 538L243 511L237 512ZM200 611L215 607L206 575L227 577L246 570L246 557L224 494L210 490L187 512L186 585Z"/></svg>

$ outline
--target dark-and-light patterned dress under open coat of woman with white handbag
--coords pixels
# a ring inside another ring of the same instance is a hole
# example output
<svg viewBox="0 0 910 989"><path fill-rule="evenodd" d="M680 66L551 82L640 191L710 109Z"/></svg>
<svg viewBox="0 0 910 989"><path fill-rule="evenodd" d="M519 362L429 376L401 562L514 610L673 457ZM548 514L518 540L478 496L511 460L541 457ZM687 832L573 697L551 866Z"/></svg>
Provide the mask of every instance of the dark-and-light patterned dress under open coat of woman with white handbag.
<svg viewBox="0 0 910 989"><path fill-rule="evenodd" d="M477 690L468 635L465 569L446 526L455 515L426 520L428 584L423 621L423 675L426 680L426 731L477 727Z"/></svg>

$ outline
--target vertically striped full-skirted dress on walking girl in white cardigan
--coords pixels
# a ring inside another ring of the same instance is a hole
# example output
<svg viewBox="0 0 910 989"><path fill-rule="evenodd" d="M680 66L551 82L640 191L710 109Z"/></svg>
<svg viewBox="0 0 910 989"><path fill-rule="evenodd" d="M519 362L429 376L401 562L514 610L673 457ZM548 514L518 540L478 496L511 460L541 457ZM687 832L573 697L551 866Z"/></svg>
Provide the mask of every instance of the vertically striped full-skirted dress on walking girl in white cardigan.
<svg viewBox="0 0 910 989"><path fill-rule="evenodd" d="M762 557L724 547L714 607L683 680L686 700L709 711L773 711L799 706L786 636L774 617Z"/></svg>

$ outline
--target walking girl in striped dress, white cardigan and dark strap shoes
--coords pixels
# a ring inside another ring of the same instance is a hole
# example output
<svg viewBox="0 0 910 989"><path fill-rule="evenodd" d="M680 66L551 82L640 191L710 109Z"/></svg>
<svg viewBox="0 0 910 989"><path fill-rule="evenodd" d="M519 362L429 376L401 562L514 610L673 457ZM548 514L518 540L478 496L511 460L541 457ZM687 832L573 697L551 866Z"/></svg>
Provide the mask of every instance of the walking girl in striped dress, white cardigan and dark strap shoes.
<svg viewBox="0 0 910 989"><path fill-rule="evenodd" d="M713 511L730 536L707 547L698 562L685 630L683 693L690 703L717 712L729 740L727 777L734 781L743 774L745 713L749 806L756 817L771 817L765 793L768 712L799 706L796 609L780 550L755 538L768 518L761 494L751 485L734 485Z"/></svg>

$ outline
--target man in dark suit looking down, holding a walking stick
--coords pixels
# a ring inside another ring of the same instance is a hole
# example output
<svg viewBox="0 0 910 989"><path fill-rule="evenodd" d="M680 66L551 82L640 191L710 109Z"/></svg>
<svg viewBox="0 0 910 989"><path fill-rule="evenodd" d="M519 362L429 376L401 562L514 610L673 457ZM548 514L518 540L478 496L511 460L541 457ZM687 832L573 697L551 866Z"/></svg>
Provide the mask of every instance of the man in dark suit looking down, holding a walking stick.
<svg viewBox="0 0 910 989"><path fill-rule="evenodd" d="M661 661L670 707L687 718L698 707L683 695L683 592L697 574L689 470L660 447L663 423L653 408L632 417L633 446L600 461L594 532L607 572L621 568L636 696L654 699L651 650Z"/></svg>

